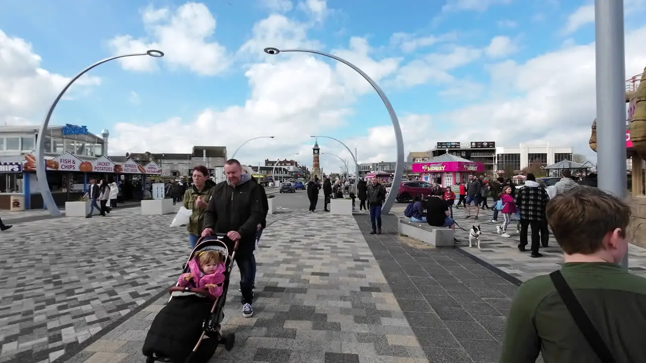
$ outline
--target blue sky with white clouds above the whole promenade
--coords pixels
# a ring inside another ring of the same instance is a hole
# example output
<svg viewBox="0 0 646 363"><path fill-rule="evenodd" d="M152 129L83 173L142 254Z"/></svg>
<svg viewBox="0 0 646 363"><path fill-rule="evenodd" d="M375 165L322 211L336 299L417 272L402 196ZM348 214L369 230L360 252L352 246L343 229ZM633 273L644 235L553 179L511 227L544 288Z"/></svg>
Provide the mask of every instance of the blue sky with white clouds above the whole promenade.
<svg viewBox="0 0 646 363"><path fill-rule="evenodd" d="M67 81L91 70L52 124L110 131L109 154L225 146L251 165L311 167L313 135L394 161L395 132L347 59L374 79L401 123L404 151L441 141L572 146L594 161L592 0L22 0L0 2L0 122L40 123ZM404 5L406 4L406 5ZM646 0L625 0L627 78L646 66ZM624 122L618 120L618 122ZM324 170L351 161L318 138Z"/></svg>

